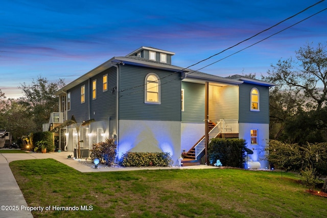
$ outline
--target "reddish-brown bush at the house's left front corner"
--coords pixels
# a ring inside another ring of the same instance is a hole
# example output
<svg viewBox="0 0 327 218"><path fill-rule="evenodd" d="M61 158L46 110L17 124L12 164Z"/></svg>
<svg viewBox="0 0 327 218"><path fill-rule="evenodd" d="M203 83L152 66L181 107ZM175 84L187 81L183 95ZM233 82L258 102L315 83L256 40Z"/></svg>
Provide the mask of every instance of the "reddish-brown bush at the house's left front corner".
<svg viewBox="0 0 327 218"><path fill-rule="evenodd" d="M102 163L111 166L116 156L116 147L112 138L106 138L105 141L92 144L92 149L90 150L92 161L98 158Z"/></svg>

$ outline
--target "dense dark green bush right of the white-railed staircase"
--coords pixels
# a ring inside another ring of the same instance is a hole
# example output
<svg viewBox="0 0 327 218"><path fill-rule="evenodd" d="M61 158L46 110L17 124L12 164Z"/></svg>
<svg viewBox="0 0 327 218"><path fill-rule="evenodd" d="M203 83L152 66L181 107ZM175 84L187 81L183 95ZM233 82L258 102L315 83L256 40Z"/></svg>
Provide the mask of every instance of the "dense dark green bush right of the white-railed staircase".
<svg viewBox="0 0 327 218"><path fill-rule="evenodd" d="M223 166L243 168L245 145L244 139L213 138L208 144L209 160L211 164L219 159Z"/></svg>

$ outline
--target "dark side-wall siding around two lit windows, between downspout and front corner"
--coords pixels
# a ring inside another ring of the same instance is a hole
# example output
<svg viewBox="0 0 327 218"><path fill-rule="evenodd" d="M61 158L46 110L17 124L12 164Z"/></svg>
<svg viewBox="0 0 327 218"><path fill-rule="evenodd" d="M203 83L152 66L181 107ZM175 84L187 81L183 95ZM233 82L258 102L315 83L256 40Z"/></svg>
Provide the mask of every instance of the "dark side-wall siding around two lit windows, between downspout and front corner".
<svg viewBox="0 0 327 218"><path fill-rule="evenodd" d="M108 75L108 90L103 91L103 76L106 74ZM116 111L116 94L112 89L116 86L116 68L111 67L92 77L91 86L94 80L97 80L97 99L92 99L92 87L90 87L90 118L96 121L108 120L109 117L113 119Z"/></svg>

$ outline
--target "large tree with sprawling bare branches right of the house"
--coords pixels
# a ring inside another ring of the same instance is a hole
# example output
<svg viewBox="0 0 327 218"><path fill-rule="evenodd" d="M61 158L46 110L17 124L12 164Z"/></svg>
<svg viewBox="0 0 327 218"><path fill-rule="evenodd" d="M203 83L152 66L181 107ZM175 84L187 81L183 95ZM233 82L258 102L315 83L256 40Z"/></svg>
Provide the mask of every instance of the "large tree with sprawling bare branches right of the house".
<svg viewBox="0 0 327 218"><path fill-rule="evenodd" d="M270 91L270 138L289 143L326 140L327 52L321 43L296 51L296 60L279 60L265 81ZM294 133L298 133L297 135Z"/></svg>

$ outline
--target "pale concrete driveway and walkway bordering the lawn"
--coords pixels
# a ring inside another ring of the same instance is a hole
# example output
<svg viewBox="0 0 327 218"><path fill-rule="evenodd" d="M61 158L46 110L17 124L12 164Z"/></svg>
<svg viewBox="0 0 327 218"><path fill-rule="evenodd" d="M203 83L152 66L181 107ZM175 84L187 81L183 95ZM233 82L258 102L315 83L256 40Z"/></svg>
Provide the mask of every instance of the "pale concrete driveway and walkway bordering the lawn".
<svg viewBox="0 0 327 218"><path fill-rule="evenodd" d="M29 210L22 209L28 205L22 196L19 186L11 172L9 163L15 160L46 159L52 158L63 164L75 168L82 173L87 172L113 172L113 171L136 171L145 169L205 169L217 168L213 166L197 165L184 167L99 167L97 169L79 163L76 160L67 159L73 152L53 152L53 153L0 153L0 218L25 218L33 217ZM18 207L17 207L18 206Z"/></svg>

